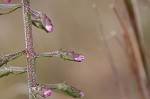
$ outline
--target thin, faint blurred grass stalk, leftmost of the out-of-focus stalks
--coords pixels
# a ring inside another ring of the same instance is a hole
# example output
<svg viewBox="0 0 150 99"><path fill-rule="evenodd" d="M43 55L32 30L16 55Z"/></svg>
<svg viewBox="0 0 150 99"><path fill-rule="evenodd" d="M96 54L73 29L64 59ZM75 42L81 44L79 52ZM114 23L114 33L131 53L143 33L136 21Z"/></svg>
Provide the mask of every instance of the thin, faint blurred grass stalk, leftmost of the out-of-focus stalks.
<svg viewBox="0 0 150 99"><path fill-rule="evenodd" d="M116 87L118 89L120 98L121 99L126 99L127 98L126 90L124 88L122 79L121 79L121 77L119 75L119 72L117 70L117 66L115 64L115 61L113 59L113 56L112 56L112 53L111 53L111 49L109 47L109 42L107 41L107 39L105 37L105 33L103 31L102 24L101 24L100 20L98 19L100 17L100 13L99 13L98 7L96 5L94 6L94 12L96 14L96 19L97 19L97 25L98 25L99 33L101 33L101 35L103 37L103 43L104 43L104 46L106 48L106 55L107 55L108 61L109 61L110 66L111 66L113 76L115 78L115 83L116 83Z"/></svg>

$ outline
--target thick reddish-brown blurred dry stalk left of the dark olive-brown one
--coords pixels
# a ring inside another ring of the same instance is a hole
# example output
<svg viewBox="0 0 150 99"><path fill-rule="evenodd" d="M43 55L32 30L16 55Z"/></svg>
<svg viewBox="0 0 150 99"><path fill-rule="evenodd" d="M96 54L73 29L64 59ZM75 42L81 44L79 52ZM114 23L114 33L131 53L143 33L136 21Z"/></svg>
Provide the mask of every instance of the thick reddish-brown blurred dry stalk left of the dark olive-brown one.
<svg viewBox="0 0 150 99"><path fill-rule="evenodd" d="M124 40L126 44L126 52L128 59L130 60L130 66L133 71L133 75L136 79L137 88L140 94L140 99L149 99L148 89L147 89L147 77L144 71L143 61L141 59L141 53L139 49L139 44L135 35L134 28L130 23L131 19L126 11L119 6L119 1L115 0L115 5L113 10L115 11L120 25L123 30Z"/></svg>

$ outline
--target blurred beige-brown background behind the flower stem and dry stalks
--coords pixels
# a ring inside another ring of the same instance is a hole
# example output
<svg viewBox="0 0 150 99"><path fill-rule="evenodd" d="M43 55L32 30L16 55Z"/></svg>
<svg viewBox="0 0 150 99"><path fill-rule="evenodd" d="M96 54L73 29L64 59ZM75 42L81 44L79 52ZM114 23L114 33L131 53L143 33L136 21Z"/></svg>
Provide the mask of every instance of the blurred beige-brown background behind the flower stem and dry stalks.
<svg viewBox="0 0 150 99"><path fill-rule="evenodd" d="M19 2L21 0L14 0L12 3ZM126 99L129 99L129 96L130 99L139 99L136 95L135 80L131 76L129 62L123 48L122 30L110 7L112 4L113 0L31 0L31 8L46 13L54 25L52 33L45 33L33 27L35 51L37 53L50 52L62 48L85 56L83 62L64 61L55 57L37 59L38 82L66 81L69 85L76 86L84 92L83 99L121 99L105 45L105 40L107 40L113 62L127 93ZM138 6L144 33L142 37L148 51L150 49L148 32L150 8L141 2ZM0 55L24 48L22 9L0 16ZM26 57L18 58L7 65L26 66ZM0 79L0 99L27 98L26 73ZM52 96L47 99L73 98L53 91Z"/></svg>

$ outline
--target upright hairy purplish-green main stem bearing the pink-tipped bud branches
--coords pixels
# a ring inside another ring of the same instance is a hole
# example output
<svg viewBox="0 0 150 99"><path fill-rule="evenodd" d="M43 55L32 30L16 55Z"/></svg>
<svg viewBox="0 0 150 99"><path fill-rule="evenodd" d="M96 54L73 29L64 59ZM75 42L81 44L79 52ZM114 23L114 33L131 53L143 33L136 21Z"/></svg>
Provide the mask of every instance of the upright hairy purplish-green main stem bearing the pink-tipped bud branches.
<svg viewBox="0 0 150 99"><path fill-rule="evenodd" d="M23 0L23 19L24 19L24 30L25 30L25 43L27 53L27 74L28 74L28 87L29 87L29 99L32 99L31 88L36 85L35 75L35 59L34 59L34 48L33 48L33 37L32 37L32 23L31 16L29 13L30 0Z"/></svg>

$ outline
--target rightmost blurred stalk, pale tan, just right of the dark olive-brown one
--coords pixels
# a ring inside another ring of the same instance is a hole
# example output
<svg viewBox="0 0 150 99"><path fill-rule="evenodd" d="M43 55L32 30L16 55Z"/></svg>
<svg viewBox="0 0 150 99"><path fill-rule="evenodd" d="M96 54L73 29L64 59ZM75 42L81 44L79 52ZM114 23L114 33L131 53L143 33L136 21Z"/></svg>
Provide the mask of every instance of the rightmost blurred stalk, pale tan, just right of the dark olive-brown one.
<svg viewBox="0 0 150 99"><path fill-rule="evenodd" d="M140 52L141 52L141 55L142 55L142 60L143 60L143 63L144 63L145 72L146 72L146 75L147 75L148 85L149 85L150 77L149 77L149 70L148 70L148 57L146 55L146 49L145 49L145 46L144 46L143 30L142 30L142 26L141 26L142 23L141 23L141 18L140 18L140 13L139 13L139 9L138 9L137 0L131 0L131 6L132 6L131 10L132 10L132 13L134 15L132 20L134 20L134 22L135 22L135 24L133 24L133 26L136 27L134 29L134 31L137 33L136 36L137 36L137 39L138 39ZM128 10L128 12L129 12L129 10ZM130 17L132 17L132 16L130 15Z"/></svg>

